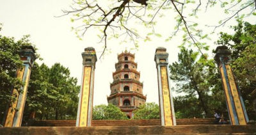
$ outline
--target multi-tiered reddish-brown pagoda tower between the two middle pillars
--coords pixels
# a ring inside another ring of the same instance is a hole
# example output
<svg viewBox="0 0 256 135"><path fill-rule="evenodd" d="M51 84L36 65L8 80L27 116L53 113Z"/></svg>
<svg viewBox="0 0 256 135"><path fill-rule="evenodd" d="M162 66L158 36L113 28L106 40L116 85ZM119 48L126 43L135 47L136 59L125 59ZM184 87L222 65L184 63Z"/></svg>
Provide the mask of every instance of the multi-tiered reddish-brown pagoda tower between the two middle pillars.
<svg viewBox="0 0 256 135"><path fill-rule="evenodd" d="M119 54L115 67L108 103L118 106L128 118L132 118L132 111L138 109L141 104L145 104L147 99L143 95L143 83L140 83L140 72L137 71L134 54L127 50Z"/></svg>

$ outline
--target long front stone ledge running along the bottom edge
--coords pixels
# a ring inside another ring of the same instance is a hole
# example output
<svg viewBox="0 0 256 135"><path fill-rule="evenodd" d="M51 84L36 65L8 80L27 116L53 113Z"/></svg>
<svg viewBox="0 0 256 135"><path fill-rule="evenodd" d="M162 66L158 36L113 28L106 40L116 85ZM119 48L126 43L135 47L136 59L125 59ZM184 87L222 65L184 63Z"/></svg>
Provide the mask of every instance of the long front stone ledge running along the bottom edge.
<svg viewBox="0 0 256 135"><path fill-rule="evenodd" d="M99 126L99 127L0 127L0 135L68 134L175 134L230 135L255 134L256 125L177 125L177 126Z"/></svg>

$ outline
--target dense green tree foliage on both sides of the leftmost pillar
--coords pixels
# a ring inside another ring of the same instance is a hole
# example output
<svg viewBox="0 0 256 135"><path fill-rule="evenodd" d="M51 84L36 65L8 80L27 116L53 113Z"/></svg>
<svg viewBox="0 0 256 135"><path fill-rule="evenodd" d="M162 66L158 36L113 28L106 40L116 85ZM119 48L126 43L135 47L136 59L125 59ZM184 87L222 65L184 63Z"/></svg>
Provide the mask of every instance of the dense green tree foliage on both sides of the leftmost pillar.
<svg viewBox="0 0 256 135"><path fill-rule="evenodd" d="M1 30L1 24L0 24ZM16 70L22 68L19 51L23 46L32 45L29 42L29 35L24 36L17 42L13 37L0 35L0 113L4 112L7 105L12 107L13 101L17 100L16 95L11 95L13 88L18 93L22 81L16 78ZM35 45L32 45L35 48ZM37 58L39 55L36 54ZM46 119L49 116L75 118L77 113L79 86L76 86L77 79L70 77L68 68L60 63L54 64L51 68L35 63L32 67L29 81L26 107L33 110ZM17 94L18 94L17 93ZM16 109L13 107L13 109ZM19 108L17 108L19 109ZM55 112L54 112L55 111ZM26 112L25 112L26 113ZM24 114L25 114L24 113ZM55 113L55 115L54 115ZM2 118L2 116L1 116Z"/></svg>

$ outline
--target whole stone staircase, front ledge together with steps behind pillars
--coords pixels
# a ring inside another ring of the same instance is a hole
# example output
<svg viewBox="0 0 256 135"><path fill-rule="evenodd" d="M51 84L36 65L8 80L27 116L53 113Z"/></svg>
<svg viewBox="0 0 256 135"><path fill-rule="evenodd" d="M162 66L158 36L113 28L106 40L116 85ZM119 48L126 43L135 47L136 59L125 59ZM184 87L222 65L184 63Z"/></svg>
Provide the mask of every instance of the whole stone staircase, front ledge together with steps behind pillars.
<svg viewBox="0 0 256 135"><path fill-rule="evenodd" d="M36 121L30 127L0 127L0 135L256 135L256 125L214 125L212 118L177 119L176 126L161 126L160 120L93 120L92 127L75 127L76 120Z"/></svg>

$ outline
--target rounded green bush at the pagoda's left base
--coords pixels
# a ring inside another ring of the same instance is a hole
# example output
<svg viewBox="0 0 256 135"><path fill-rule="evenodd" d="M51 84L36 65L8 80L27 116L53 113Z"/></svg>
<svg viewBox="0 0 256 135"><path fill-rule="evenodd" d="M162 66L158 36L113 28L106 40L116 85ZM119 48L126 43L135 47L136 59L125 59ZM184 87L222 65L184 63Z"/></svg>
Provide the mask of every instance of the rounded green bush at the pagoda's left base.
<svg viewBox="0 0 256 135"><path fill-rule="evenodd" d="M127 120L127 116L113 104L101 104L93 107L93 120Z"/></svg>

